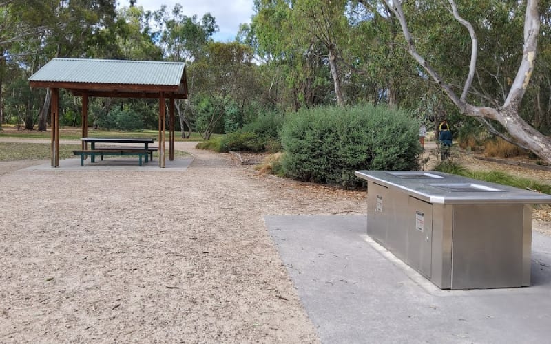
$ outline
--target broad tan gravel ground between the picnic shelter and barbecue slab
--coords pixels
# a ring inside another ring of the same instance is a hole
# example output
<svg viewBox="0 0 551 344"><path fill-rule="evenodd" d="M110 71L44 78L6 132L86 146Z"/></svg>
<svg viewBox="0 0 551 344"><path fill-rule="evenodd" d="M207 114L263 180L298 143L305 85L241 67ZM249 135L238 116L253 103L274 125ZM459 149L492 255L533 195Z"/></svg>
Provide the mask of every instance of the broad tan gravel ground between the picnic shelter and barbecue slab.
<svg viewBox="0 0 551 344"><path fill-rule="evenodd" d="M0 162L0 342L318 341L263 215L364 213L364 193L177 146L185 172Z"/></svg>

